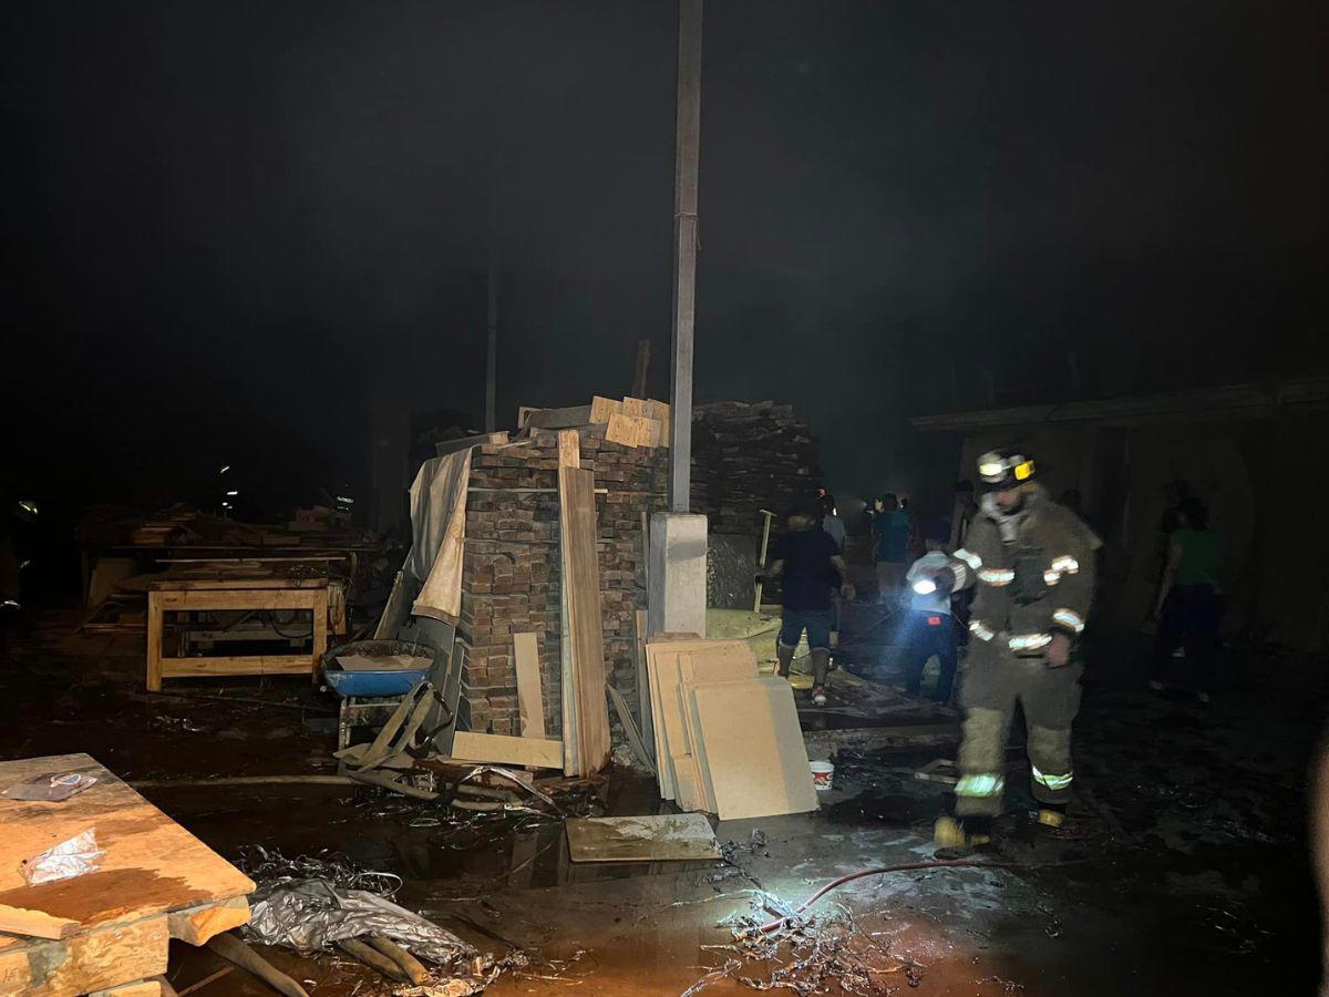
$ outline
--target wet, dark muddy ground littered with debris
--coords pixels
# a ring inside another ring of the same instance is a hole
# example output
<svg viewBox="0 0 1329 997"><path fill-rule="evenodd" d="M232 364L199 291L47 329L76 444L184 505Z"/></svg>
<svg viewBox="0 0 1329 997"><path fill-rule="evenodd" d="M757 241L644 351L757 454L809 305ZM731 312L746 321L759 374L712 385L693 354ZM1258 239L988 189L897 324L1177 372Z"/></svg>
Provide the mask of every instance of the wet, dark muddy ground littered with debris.
<svg viewBox="0 0 1329 997"><path fill-rule="evenodd" d="M843 659L889 681L873 671L880 631L868 630L868 613L851 613L860 637ZM702 993L720 994L747 992L739 977L779 982L809 949L750 962L722 923L762 893L797 903L836 876L930 859L930 824L948 803L946 786L913 770L953 756L953 746L845 750L820 812L719 824L719 840L736 843L731 861L573 865L557 820L457 823L368 788L207 786L335 771L331 698L294 678L170 683L167 695L149 695L141 641L74 637L74 622L51 613L11 637L0 659L3 756L88 751L129 782L150 780L144 795L231 859L262 844L395 872L399 903L486 950L529 954L493 994L680 994L703 980ZM1144 691L1132 646L1095 645L1088 658L1078 837L1029 827L1027 764L1013 748L1017 788L991 856L1011 867L863 877L816 908L825 961L865 968L857 992L1313 992L1318 921L1302 824L1325 714L1321 663L1232 649L1204 707ZM627 771L614 772L605 804L611 814L662 806L654 784ZM388 992L332 956L268 954L319 993ZM221 966L179 946L171 978L185 989ZM847 992L835 973L812 990ZM195 993L266 990L233 972Z"/></svg>

